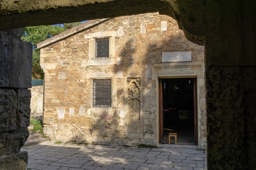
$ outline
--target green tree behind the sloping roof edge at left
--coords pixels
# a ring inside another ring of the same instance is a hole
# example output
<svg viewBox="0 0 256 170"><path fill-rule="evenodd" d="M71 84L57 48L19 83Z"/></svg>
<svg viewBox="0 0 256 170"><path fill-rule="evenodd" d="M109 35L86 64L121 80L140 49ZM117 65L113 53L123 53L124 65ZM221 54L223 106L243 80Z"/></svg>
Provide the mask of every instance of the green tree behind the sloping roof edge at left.
<svg viewBox="0 0 256 170"><path fill-rule="evenodd" d="M26 27L21 40L30 42L33 45L32 57L32 79L43 79L43 70L40 67L40 50L36 47L39 42L43 42L54 35L58 35L65 30L78 26L80 23L63 23L51 26Z"/></svg>

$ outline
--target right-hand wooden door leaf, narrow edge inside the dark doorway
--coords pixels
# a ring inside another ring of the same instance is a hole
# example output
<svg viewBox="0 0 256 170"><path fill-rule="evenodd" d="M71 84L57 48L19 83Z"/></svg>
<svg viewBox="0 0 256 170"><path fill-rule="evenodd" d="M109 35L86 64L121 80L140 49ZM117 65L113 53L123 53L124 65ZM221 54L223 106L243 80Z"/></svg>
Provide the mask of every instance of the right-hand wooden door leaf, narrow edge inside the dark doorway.
<svg viewBox="0 0 256 170"><path fill-rule="evenodd" d="M198 145L198 114L197 114L197 82L194 79L193 84L193 103L194 103L194 140L195 145Z"/></svg>

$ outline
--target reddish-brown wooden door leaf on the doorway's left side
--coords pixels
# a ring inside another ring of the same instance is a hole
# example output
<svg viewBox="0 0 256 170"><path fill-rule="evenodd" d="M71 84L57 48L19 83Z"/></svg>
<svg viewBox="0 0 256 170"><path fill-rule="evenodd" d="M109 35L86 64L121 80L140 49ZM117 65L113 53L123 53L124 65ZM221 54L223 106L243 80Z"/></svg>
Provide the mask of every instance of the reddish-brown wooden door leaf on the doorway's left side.
<svg viewBox="0 0 256 170"><path fill-rule="evenodd" d="M162 81L159 79L159 143L163 140L164 118L163 118L163 89Z"/></svg>

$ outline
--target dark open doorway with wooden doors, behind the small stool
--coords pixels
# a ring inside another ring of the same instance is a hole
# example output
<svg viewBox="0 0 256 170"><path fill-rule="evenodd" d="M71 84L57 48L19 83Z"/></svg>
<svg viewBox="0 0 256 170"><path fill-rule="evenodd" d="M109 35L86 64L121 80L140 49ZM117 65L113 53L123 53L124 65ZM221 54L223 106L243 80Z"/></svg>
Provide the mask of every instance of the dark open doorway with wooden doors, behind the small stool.
<svg viewBox="0 0 256 170"><path fill-rule="evenodd" d="M159 110L160 143L176 132L178 145L197 145L196 79L159 79Z"/></svg>

